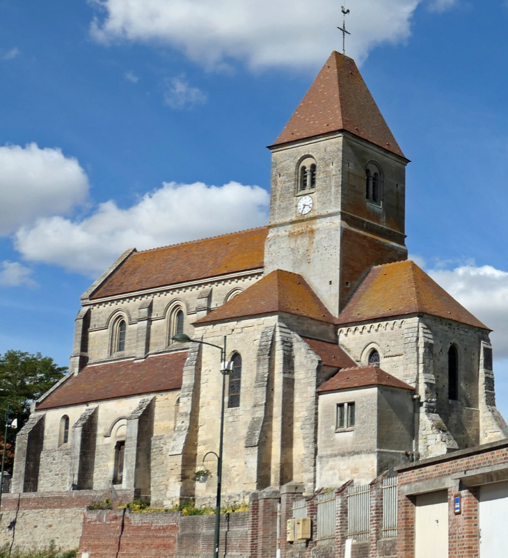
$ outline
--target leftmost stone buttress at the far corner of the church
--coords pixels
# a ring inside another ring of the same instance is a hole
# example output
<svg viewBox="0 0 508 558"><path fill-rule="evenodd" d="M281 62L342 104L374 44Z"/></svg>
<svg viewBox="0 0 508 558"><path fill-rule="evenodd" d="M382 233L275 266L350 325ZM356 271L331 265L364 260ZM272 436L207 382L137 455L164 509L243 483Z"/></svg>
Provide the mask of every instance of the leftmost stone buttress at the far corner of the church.
<svg viewBox="0 0 508 558"><path fill-rule="evenodd" d="M16 437L11 492L37 492L40 454L44 444L45 413L31 415Z"/></svg>

